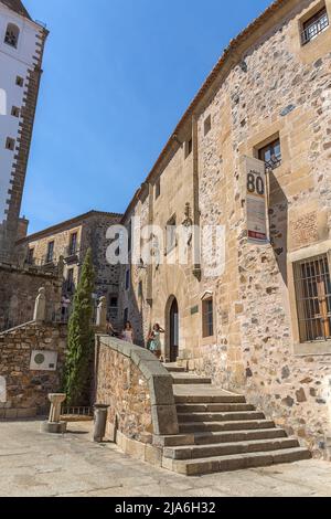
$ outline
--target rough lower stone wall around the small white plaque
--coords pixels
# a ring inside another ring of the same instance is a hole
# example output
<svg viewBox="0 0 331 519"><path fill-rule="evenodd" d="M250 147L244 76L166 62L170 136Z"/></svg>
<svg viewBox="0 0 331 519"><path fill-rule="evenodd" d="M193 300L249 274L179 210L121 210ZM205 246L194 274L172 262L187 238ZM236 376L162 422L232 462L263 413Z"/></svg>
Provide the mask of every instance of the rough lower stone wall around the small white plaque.
<svg viewBox="0 0 331 519"><path fill-rule="evenodd" d="M65 325L23 325L0 335L0 377L7 386L6 402L0 402L0 419L46 414L47 394L58 392L65 360ZM31 371L32 351L57 352L55 371Z"/></svg>

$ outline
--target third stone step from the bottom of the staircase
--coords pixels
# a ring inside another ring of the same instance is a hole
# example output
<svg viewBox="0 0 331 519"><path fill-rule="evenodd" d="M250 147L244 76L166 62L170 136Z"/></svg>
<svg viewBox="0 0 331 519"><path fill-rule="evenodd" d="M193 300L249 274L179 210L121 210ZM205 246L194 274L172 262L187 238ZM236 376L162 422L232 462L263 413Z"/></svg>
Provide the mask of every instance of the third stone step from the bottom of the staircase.
<svg viewBox="0 0 331 519"><path fill-rule="evenodd" d="M212 445L222 443L249 442L254 439L286 438L282 428L260 428L246 431L225 431L216 433L178 434L174 436L156 436L154 445L160 447L180 447Z"/></svg>

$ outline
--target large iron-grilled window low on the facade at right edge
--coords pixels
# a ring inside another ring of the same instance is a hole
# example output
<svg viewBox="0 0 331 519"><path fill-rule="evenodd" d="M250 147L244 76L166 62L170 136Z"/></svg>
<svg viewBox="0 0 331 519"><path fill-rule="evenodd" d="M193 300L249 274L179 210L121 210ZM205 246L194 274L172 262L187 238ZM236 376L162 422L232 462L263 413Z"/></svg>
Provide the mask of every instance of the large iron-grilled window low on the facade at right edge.
<svg viewBox="0 0 331 519"><path fill-rule="evenodd" d="M328 255L295 263L301 342L331 340L331 280Z"/></svg>

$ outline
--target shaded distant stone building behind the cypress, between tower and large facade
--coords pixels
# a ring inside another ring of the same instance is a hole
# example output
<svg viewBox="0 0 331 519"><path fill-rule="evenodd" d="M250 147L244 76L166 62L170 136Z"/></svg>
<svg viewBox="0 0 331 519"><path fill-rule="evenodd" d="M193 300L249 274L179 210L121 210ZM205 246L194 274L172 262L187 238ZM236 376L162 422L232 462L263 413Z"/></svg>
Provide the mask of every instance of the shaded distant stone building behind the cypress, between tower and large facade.
<svg viewBox="0 0 331 519"><path fill-rule="evenodd" d="M120 214L89 211L66 222L53 225L17 242L19 263L38 272L53 272L58 264L63 271L63 296L71 300L81 276L88 248L93 252L96 272L96 300L106 296L108 317L117 326L119 320L119 267L106 260L109 226L117 224ZM35 295L34 295L35 297Z"/></svg>

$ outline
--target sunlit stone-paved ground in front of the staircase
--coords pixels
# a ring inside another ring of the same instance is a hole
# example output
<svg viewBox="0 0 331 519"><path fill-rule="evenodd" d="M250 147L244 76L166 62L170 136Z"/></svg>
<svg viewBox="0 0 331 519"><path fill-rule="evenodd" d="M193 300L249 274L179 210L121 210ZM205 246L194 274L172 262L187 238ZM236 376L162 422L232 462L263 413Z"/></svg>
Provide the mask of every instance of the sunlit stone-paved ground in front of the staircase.
<svg viewBox="0 0 331 519"><path fill-rule="evenodd" d="M331 463L320 460L188 478L90 442L86 424L65 436L40 423L0 422L0 496L229 497L331 496Z"/></svg>

